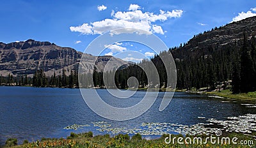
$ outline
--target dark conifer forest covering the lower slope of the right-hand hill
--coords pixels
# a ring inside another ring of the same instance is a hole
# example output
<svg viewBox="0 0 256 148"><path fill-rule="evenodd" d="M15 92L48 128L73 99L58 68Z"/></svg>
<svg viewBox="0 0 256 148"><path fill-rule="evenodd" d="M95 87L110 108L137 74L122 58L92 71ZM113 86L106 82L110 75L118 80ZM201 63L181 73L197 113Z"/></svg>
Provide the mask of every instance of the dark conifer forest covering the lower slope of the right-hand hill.
<svg viewBox="0 0 256 148"><path fill-rule="evenodd" d="M211 45L204 50L204 54L184 59L175 59L177 68L177 89L202 89L212 91L215 89L230 89L232 93L248 93L256 91L256 40L255 37L246 37L235 41L234 45L224 48L213 48ZM175 47L181 48L181 47ZM170 48L170 50L173 50ZM163 51L159 56L154 56L150 61L154 63L159 73L160 87L166 87L167 75L161 56L168 56ZM148 63L145 59L138 63ZM147 75L143 73L140 66L129 66L129 68L117 70L115 73L115 84L117 87L128 87L129 77L138 78L140 87L148 85ZM102 75L98 73L97 75ZM97 77L102 85L102 78ZM231 82L231 83L230 83ZM96 83L99 85L99 83ZM228 87L230 86L231 87Z"/></svg>

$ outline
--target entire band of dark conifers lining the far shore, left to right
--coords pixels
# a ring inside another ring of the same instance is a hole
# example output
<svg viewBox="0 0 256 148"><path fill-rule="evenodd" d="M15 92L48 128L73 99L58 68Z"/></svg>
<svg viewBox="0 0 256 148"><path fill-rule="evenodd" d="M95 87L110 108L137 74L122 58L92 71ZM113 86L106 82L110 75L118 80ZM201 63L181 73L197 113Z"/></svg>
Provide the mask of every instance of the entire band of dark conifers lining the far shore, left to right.
<svg viewBox="0 0 256 148"><path fill-rule="evenodd" d="M202 89L212 91L214 89L226 89L228 81L233 93L247 93L256 91L256 40L255 37L247 38L244 34L243 41L237 41L234 46L225 48L213 48L211 45L205 50L205 54L184 59L175 59L177 69L177 89ZM181 47L175 47L179 50ZM172 51L173 48L170 48ZM33 78L28 76L8 77L0 76L1 85L33 85L35 87L105 87L103 75L109 77L115 75L115 82L105 82L108 87L126 88L130 77L138 79L139 87L148 87L148 78L141 67L147 67L151 61L157 68L160 87L166 87L167 74L161 56L168 56L167 51L155 55L151 59L143 59L138 65L133 64L127 68L113 71L102 71L93 68L92 73L80 75L81 84L78 82L77 70L71 70L66 75L66 70L52 76L46 76L44 70L36 70ZM146 65L146 66L145 66ZM93 78L93 80L91 80ZM110 80L106 78L106 80ZM152 85L152 84L150 84ZM154 85L154 83L153 83Z"/></svg>

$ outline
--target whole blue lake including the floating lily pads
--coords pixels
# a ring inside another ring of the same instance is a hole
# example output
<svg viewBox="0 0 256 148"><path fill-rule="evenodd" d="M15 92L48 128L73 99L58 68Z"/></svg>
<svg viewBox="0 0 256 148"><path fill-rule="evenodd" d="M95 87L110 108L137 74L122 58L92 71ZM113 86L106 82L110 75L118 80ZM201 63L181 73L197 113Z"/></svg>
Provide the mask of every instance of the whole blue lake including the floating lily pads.
<svg viewBox="0 0 256 148"><path fill-rule="evenodd" d="M79 89L2 86L0 92L0 145L10 137L22 144L24 139L32 142L42 137L66 138L70 132L141 133L144 138L156 138L163 133L211 133L216 128L232 130L223 126L232 122L237 125L239 120L246 122L239 124L246 131L237 128L237 132L250 133L256 129L255 105L205 94L175 93L168 107L159 112L164 95L159 92L154 105L140 117L111 121L90 110ZM131 98L117 99L106 89L97 92L106 103L116 107L132 106L145 95L145 91L137 91Z"/></svg>

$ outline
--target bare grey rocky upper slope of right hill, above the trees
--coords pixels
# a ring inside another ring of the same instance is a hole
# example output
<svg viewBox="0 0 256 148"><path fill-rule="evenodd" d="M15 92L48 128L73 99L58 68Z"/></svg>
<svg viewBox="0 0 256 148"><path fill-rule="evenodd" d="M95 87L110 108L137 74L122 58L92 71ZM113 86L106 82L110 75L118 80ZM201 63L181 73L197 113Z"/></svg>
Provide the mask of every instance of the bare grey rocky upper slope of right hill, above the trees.
<svg viewBox="0 0 256 148"><path fill-rule="evenodd" d="M243 34L249 38L256 36L256 17L246 18L238 22L232 22L211 31L205 31L195 35L185 45L172 48L172 56L175 59L188 57L201 57L211 54L214 50L222 50L229 47L241 47Z"/></svg>

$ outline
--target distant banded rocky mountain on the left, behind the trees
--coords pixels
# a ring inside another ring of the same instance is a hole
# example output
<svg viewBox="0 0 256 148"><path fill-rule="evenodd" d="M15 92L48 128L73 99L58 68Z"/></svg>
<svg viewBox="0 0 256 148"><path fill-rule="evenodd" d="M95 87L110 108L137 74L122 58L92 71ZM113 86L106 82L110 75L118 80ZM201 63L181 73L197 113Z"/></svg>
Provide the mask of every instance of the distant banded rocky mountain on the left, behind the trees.
<svg viewBox="0 0 256 148"><path fill-rule="evenodd" d="M74 48L60 47L49 41L26 40L13 43L0 42L0 75L6 76L9 73L15 75L32 76L35 70L42 69L46 75L61 73L63 69L78 70L79 61L83 53ZM93 71L93 66L98 71L103 70L106 63L112 56L92 56L84 54L86 72ZM94 64L93 61L96 60ZM111 60L112 61L112 60ZM111 66L125 64L126 61L113 57Z"/></svg>

